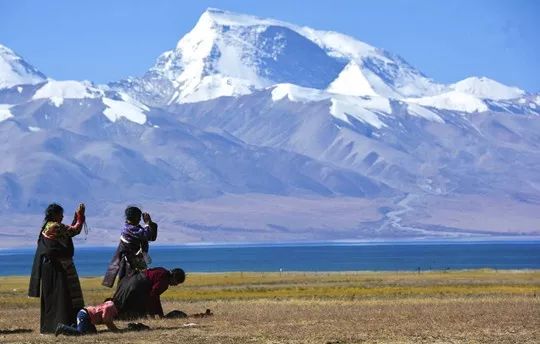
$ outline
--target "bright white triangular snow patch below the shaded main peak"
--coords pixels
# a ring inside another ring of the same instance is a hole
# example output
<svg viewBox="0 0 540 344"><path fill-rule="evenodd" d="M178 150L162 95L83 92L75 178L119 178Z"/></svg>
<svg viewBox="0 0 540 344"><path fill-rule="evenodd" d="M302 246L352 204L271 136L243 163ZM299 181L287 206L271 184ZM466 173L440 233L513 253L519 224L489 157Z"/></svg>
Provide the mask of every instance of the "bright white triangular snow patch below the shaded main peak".
<svg viewBox="0 0 540 344"><path fill-rule="evenodd" d="M328 92L350 96L376 96L362 70L356 62L349 62L336 80L328 86Z"/></svg>

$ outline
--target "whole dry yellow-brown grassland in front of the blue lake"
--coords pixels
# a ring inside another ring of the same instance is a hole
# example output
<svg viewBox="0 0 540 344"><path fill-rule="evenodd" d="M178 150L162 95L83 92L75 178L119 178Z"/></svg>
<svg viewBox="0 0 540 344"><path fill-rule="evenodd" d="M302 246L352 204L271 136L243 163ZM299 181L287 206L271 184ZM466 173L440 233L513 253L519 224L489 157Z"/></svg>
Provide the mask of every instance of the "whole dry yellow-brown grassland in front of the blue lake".
<svg viewBox="0 0 540 344"><path fill-rule="evenodd" d="M88 304L111 294L99 278L81 283ZM0 277L0 342L73 342L39 334L39 299L26 297L27 284ZM210 308L214 316L143 319L150 331L101 328L76 342L540 342L538 271L192 274L162 300L165 311Z"/></svg>

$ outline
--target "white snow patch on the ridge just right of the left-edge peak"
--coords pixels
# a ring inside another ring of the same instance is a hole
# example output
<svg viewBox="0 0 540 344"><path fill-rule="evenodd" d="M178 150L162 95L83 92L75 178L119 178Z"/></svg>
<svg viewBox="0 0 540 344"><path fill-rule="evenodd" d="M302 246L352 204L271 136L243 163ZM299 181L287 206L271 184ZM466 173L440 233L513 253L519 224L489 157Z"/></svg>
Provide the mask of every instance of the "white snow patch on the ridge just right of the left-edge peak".
<svg viewBox="0 0 540 344"><path fill-rule="evenodd" d="M96 98L103 94L90 82L75 80L49 80L36 91L32 99L49 99L56 107L63 104L64 99Z"/></svg>

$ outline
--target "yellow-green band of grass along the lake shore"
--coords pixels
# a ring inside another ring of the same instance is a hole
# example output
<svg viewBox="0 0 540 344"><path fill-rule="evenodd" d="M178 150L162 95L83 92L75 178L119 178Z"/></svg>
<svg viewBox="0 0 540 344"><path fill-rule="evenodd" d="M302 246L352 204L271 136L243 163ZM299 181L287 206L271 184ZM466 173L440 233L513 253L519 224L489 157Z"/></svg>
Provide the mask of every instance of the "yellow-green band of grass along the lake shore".
<svg viewBox="0 0 540 344"><path fill-rule="evenodd" d="M110 297L101 277L82 277L87 304ZM0 277L0 306L34 307L26 296L28 277ZM189 274L162 295L169 301L250 299L397 299L476 296L540 296L540 272L471 270L452 272L217 273Z"/></svg>

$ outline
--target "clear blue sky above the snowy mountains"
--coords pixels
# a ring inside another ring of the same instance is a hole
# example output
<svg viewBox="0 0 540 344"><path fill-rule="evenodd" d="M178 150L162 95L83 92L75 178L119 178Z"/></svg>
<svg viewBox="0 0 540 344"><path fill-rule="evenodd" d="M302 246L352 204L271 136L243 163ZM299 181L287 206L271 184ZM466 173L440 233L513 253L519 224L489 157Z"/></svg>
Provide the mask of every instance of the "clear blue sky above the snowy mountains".
<svg viewBox="0 0 540 344"><path fill-rule="evenodd" d="M143 74L207 7L339 31L439 82L487 76L540 91L535 0L0 0L0 44L55 79Z"/></svg>

